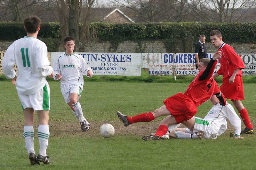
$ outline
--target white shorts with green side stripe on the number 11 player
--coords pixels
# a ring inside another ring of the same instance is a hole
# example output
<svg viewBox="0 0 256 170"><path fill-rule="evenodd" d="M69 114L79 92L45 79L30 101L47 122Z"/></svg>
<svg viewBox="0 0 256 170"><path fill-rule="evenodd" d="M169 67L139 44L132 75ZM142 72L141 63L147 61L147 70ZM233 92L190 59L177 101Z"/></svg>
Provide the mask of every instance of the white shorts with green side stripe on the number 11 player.
<svg viewBox="0 0 256 170"><path fill-rule="evenodd" d="M50 110L50 87L48 82L38 92L32 95L24 95L18 92L22 110L33 108L34 110Z"/></svg>

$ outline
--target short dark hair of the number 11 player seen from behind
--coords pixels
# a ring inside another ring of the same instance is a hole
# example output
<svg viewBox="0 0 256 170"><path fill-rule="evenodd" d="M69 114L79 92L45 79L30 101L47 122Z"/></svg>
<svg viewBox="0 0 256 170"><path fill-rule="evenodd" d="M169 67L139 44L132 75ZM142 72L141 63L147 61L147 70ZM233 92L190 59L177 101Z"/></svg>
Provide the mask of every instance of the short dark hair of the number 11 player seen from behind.
<svg viewBox="0 0 256 170"><path fill-rule="evenodd" d="M28 33L35 33L42 23L41 19L36 16L25 18L23 22Z"/></svg>

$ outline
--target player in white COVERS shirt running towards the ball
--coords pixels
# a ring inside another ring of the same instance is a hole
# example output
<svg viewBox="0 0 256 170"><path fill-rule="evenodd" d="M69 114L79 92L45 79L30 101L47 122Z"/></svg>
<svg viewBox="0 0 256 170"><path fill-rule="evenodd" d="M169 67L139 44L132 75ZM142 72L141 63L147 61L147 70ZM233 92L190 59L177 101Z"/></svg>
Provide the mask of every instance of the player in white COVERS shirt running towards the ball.
<svg viewBox="0 0 256 170"><path fill-rule="evenodd" d="M66 52L58 55L53 71L54 80L60 80L61 93L65 102L72 109L73 114L80 121L81 129L88 131L91 127L85 119L81 104L79 103L80 93L83 91L84 78L92 77L92 69L85 62L81 55L74 53L75 39L68 36L64 38Z"/></svg>

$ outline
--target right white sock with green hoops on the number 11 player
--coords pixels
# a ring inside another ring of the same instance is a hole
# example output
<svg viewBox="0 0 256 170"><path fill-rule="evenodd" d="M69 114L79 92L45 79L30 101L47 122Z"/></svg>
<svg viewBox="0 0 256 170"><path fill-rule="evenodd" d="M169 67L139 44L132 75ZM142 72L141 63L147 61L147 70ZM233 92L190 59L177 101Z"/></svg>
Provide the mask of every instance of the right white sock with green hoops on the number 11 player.
<svg viewBox="0 0 256 170"><path fill-rule="evenodd" d="M49 125L48 124L39 124L38 126L38 139L39 139L39 153L42 156L46 156L46 149L48 146L49 139Z"/></svg>

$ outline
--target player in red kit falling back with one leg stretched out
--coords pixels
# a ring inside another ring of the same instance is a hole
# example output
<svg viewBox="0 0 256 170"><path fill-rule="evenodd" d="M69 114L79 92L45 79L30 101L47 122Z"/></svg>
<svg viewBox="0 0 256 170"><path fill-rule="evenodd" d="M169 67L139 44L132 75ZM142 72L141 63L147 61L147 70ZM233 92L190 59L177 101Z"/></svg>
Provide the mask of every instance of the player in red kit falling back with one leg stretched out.
<svg viewBox="0 0 256 170"><path fill-rule="evenodd" d="M222 96L218 84L213 79L212 74L217 64L217 59L221 57L221 52L214 53L212 59L201 59L194 80L190 83L184 94L178 93L164 100L164 105L149 113L142 113L133 117L123 115L117 111L117 116L123 121L124 126L136 122L150 122L157 117L172 115L161 121L154 136L143 136L143 140L157 140L165 135L168 126L179 124L192 118L197 112L197 106L201 105L212 95L216 95L220 104L225 106L226 100Z"/></svg>

